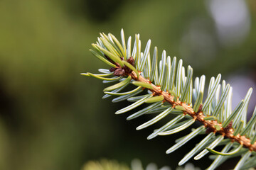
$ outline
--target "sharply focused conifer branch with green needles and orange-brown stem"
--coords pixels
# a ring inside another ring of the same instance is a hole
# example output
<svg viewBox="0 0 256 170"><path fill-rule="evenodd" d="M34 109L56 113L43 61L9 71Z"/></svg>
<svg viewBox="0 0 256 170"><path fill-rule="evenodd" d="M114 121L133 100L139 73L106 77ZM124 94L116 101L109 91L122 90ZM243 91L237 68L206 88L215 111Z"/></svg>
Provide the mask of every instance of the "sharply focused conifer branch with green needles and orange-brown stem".
<svg viewBox="0 0 256 170"><path fill-rule="evenodd" d="M248 122L246 116L252 89L249 89L245 98L232 111L233 89L225 81L220 81L220 74L210 79L206 93L204 75L193 79L191 66L188 66L186 73L183 61L177 61L176 57L171 61L166 51L161 53L161 60L158 62L157 47L154 47L154 52L150 52L151 40L147 42L144 50L142 50L139 35L135 35L132 47L132 38L129 37L126 42L123 30L121 30L121 42L114 35L104 33L100 34L97 40L96 44L92 44L90 51L111 68L99 69L100 74L82 75L101 79L103 83L114 83L104 89L103 98L117 96L112 102L124 100L134 102L117 111L116 114L132 111L138 106L144 108L129 115L127 120L144 114L159 113L137 127L137 130L149 127L163 118L170 119L166 115L173 114L174 117L171 117L172 119L166 125L149 135L149 140L157 135L180 132L196 121L203 124L176 140L176 144L166 151L167 154L174 152L193 137L206 133L206 137L188 151L188 154L178 163L179 165L185 164L191 157L201 159L210 152L215 154L215 157L208 169L215 169L232 157L241 157L235 169L256 166L256 108ZM153 54L152 57L151 54ZM134 86L133 90L119 92L129 84ZM147 94L140 94L143 91ZM203 101L204 95L206 100ZM222 145L221 152L214 150L215 147Z"/></svg>

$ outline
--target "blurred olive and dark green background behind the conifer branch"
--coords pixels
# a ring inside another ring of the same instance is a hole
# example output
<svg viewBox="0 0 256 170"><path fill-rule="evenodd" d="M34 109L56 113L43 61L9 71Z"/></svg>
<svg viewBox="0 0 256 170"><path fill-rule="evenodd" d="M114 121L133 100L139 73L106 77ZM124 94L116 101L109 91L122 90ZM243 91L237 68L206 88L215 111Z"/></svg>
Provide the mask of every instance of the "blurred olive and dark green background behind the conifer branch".
<svg viewBox="0 0 256 170"><path fill-rule="evenodd" d="M80 76L107 68L90 54L90 44L100 32L119 38L121 28L126 38L140 33L142 47L150 38L182 58L207 82L222 73L234 104L256 86L254 0L1 0L0 169L81 169L103 157L175 168L193 148L198 140L166 155L178 135L147 141L159 125L136 131L146 118L114 115L127 102L102 100L105 84ZM255 101L253 92L249 113ZM207 158L191 162L210 165Z"/></svg>

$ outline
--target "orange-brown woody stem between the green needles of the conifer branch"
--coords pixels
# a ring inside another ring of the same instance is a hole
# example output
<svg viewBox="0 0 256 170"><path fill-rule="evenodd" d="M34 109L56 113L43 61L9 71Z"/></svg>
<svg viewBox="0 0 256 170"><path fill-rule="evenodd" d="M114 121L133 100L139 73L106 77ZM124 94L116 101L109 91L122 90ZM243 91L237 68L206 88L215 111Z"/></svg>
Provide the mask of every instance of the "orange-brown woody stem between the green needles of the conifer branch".
<svg viewBox="0 0 256 170"><path fill-rule="evenodd" d="M137 77L137 74L135 72L129 73L129 75L132 77L132 79L136 81L142 81L147 84L151 84L151 82L148 79L145 79L142 76ZM199 122L203 123L203 125L207 128L208 132L218 132L220 135L223 135L224 137L230 138L231 141L233 142L238 142L240 145L243 145L244 147L247 147L250 149L250 151L255 151L256 152L256 142L252 145L250 143L250 139L248 139L245 136L241 136L240 134L234 136L234 130L231 128L232 122L230 125L228 125L226 128L222 127L221 123L218 123L217 120L204 120L206 117L203 115L203 112L199 108L199 111L195 113L193 111L193 108L186 103L183 103L179 101L178 99L174 101L174 96L171 96L168 92L166 91L161 91L159 86L155 86L154 84L151 84L153 89L149 89L154 96L164 96L164 101L170 103L173 107L175 106L183 106L184 110L183 114L184 115L190 115L193 119L198 120ZM216 130L216 125L220 127L220 130Z"/></svg>

